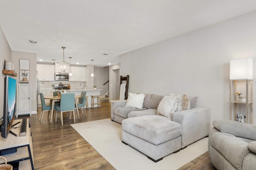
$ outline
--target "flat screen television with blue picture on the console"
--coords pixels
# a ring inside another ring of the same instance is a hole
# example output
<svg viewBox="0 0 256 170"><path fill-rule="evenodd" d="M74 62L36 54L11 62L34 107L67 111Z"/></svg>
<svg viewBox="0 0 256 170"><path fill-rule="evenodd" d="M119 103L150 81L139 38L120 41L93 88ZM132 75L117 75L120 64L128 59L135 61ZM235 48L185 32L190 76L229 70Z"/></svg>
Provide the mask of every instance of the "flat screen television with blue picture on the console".
<svg viewBox="0 0 256 170"><path fill-rule="evenodd" d="M7 138L15 115L16 79L6 75L4 78L4 116L1 126L1 136Z"/></svg>

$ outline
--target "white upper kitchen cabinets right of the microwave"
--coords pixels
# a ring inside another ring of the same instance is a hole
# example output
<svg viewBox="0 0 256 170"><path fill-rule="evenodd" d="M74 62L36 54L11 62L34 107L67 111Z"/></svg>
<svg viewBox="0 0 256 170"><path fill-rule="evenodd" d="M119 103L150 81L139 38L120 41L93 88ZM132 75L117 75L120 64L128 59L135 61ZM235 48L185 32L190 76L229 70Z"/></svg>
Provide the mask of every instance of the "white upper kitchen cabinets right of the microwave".
<svg viewBox="0 0 256 170"><path fill-rule="evenodd" d="M71 66L71 73L69 81L86 81L86 67Z"/></svg>

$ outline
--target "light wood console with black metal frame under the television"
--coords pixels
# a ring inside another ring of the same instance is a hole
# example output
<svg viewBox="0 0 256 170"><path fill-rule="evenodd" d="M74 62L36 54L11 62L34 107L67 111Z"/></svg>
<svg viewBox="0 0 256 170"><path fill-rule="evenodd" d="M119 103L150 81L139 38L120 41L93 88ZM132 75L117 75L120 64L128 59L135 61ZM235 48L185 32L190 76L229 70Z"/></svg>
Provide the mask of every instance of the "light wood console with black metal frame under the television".
<svg viewBox="0 0 256 170"><path fill-rule="evenodd" d="M19 123L14 127L19 127L22 125L22 119L17 119L13 121ZM32 136L29 128L29 120L27 119L26 136L20 137L20 128L11 128L12 132L18 136L8 134L7 138L0 137L0 151L6 151L10 149L17 149L17 152L12 154L2 155L6 158L8 164L19 162L19 169L21 170L34 170L33 163L33 147L32 147ZM0 160L0 164L4 163L4 160Z"/></svg>

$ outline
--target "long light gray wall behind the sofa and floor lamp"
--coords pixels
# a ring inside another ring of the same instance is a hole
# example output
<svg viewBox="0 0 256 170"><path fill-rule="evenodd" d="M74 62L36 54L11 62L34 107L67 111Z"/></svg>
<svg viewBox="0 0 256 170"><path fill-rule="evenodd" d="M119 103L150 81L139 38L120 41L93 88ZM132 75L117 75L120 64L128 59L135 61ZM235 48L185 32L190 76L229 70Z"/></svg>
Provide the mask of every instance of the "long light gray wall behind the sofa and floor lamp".
<svg viewBox="0 0 256 170"><path fill-rule="evenodd" d="M211 125L228 120L230 60L250 57L256 65L255 18L253 11L124 53L120 75L130 75L131 93L198 96L199 107L210 107Z"/></svg>

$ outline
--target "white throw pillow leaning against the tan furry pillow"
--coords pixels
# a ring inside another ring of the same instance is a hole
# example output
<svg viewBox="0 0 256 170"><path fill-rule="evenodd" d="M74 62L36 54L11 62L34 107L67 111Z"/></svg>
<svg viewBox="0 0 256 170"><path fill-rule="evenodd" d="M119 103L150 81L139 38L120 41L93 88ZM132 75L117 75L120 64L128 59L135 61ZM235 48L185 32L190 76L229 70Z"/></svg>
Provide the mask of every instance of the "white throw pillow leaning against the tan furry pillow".
<svg viewBox="0 0 256 170"><path fill-rule="evenodd" d="M157 107L157 114L172 119L172 113L177 109L177 96L164 96Z"/></svg>

